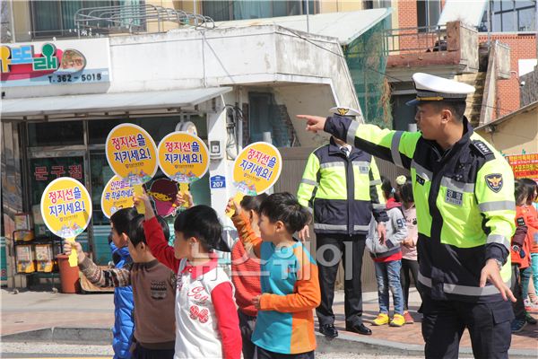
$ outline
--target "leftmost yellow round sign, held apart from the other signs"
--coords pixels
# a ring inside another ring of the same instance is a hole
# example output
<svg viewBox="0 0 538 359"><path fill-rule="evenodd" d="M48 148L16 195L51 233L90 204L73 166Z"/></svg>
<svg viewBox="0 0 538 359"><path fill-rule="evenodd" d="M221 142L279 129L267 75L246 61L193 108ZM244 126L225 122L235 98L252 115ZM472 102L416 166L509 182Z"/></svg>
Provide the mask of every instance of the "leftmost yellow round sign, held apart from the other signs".
<svg viewBox="0 0 538 359"><path fill-rule="evenodd" d="M74 238L90 223L90 194L78 180L60 177L45 188L41 215L50 232L61 238Z"/></svg>

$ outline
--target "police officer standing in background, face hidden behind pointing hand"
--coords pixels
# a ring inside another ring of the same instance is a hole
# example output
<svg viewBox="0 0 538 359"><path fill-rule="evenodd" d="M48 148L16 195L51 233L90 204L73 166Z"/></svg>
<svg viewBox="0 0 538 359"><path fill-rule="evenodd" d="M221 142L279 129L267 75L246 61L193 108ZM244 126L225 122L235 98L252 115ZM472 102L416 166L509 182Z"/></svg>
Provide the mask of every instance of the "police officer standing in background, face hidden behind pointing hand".
<svg viewBox="0 0 538 359"><path fill-rule="evenodd" d="M331 111L349 118L359 114L348 108ZM302 206L313 208L314 212L321 289L321 303L316 310L319 331L325 337L338 336L333 300L334 281L342 258L346 330L370 335L371 330L362 323L362 256L372 213L377 223L388 219L376 162L369 153L332 136L329 144L310 153L297 198ZM377 230L383 235L384 224ZM304 240L307 233L308 227L299 237Z"/></svg>

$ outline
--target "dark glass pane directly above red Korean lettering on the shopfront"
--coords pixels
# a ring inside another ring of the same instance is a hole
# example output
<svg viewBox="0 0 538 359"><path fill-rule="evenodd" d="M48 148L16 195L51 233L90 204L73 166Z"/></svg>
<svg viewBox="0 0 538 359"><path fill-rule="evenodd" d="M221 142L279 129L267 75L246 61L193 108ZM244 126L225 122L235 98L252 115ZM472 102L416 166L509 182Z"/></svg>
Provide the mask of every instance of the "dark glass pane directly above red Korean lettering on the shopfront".
<svg viewBox="0 0 538 359"><path fill-rule="evenodd" d="M28 124L30 147L84 144L82 121L38 122Z"/></svg>

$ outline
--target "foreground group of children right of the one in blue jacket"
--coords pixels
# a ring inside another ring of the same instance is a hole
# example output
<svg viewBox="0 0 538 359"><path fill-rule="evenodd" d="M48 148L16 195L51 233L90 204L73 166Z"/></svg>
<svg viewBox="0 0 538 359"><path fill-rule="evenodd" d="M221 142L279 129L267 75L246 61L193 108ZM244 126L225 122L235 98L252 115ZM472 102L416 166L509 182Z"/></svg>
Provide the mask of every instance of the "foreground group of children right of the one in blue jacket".
<svg viewBox="0 0 538 359"><path fill-rule="evenodd" d="M313 309L320 291L316 261L292 237L311 220L295 197L230 199L227 210L240 240L231 250L233 284L214 252L230 249L213 208L181 212L171 247L168 224L154 214L149 197L134 202L143 203L144 215L126 208L110 218L112 241L127 246L131 263L101 269L80 244L64 245L66 254L77 250L79 267L94 285L132 285L134 332L122 333L131 347L128 353L115 350L115 357L314 357Z"/></svg>

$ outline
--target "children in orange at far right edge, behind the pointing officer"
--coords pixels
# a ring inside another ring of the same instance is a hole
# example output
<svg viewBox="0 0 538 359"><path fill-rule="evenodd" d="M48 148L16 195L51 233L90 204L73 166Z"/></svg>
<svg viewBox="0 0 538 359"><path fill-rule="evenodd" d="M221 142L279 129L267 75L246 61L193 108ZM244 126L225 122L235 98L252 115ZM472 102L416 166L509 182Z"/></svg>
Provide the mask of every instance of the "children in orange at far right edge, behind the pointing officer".
<svg viewBox="0 0 538 359"><path fill-rule="evenodd" d="M511 290L513 303L512 333L517 333L536 320L528 311L538 311L538 215L535 201L538 186L534 180L516 180L516 233L512 237ZM531 281L531 277L533 281Z"/></svg>

